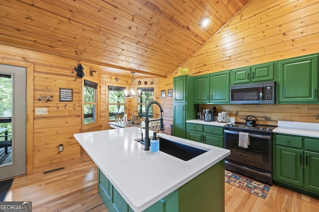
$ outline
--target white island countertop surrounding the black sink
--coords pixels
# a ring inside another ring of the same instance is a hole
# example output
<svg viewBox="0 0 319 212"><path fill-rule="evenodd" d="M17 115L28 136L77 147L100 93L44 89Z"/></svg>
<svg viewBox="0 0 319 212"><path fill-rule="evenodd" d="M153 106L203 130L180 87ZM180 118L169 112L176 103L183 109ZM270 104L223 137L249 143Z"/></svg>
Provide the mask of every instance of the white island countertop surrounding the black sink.
<svg viewBox="0 0 319 212"><path fill-rule="evenodd" d="M158 137L208 150L188 161L152 154L133 139L145 129L130 127L75 134L104 175L135 212L141 212L230 154L230 150L165 134ZM150 135L153 132L150 131Z"/></svg>

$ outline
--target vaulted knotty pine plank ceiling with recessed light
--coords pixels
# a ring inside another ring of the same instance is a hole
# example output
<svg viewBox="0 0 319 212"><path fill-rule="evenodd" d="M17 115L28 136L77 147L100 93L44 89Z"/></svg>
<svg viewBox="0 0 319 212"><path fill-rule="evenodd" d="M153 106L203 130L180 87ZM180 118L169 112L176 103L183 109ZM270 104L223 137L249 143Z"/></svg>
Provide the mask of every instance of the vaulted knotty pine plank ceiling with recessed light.
<svg viewBox="0 0 319 212"><path fill-rule="evenodd" d="M0 43L166 77L248 1L0 0Z"/></svg>

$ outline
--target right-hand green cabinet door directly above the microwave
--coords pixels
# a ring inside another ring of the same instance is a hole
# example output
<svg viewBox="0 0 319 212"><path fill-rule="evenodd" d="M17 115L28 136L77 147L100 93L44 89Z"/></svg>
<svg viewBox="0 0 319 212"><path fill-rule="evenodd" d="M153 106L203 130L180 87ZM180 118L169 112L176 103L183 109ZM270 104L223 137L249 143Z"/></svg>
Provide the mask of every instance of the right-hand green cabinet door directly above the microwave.
<svg viewBox="0 0 319 212"><path fill-rule="evenodd" d="M265 63L252 66L252 82L274 80L274 63Z"/></svg>

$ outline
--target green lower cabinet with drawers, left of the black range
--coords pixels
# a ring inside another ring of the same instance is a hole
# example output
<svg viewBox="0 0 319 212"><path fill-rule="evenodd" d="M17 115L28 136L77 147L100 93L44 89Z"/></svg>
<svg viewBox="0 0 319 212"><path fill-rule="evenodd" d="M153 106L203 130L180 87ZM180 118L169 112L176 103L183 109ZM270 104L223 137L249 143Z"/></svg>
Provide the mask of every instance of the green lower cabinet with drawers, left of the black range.
<svg viewBox="0 0 319 212"><path fill-rule="evenodd" d="M186 123L186 139L223 147L223 128L201 124Z"/></svg>

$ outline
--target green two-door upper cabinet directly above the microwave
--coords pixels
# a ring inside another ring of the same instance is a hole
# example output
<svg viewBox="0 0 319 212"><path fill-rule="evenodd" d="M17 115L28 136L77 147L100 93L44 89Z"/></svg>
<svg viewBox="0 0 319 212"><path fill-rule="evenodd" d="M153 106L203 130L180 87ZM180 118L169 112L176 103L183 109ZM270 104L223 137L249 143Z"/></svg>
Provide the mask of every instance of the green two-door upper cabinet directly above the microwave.
<svg viewBox="0 0 319 212"><path fill-rule="evenodd" d="M261 81L273 81L275 79L275 63L265 63L230 72L230 84L245 84Z"/></svg>

